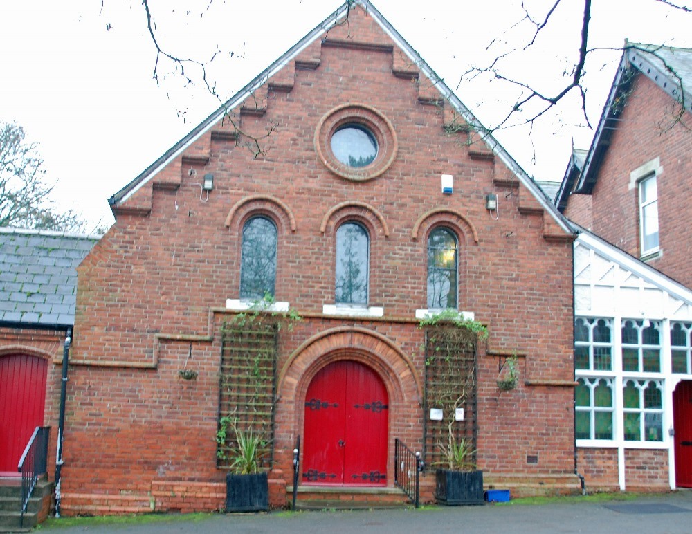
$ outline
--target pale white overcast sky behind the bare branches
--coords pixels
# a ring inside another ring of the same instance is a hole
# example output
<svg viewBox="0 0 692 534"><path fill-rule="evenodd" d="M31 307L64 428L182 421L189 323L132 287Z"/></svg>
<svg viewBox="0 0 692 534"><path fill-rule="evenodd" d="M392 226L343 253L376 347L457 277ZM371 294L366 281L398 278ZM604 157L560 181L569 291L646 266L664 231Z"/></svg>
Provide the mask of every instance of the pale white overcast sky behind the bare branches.
<svg viewBox="0 0 692 534"><path fill-rule="evenodd" d="M226 99L340 3L149 0L149 8L165 50L200 61L219 50L208 79ZM520 0L373 3L486 126L511 109L517 88L462 73L501 55L504 75L552 94L574 61L583 18L583 1L562 0L523 50L536 26L517 24ZM554 0L524 4L540 22ZM657 0L594 0L584 80L590 125L598 123L626 38L691 48L689 28L692 14ZM112 223L111 195L219 106L192 67L188 84L160 58L154 80L156 48L141 0L3 2L0 50L0 121L16 121L37 143L46 179L57 182L56 208L81 213L93 228ZM529 175L552 181L561 180L572 144L588 148L592 136L576 93L533 125L495 133Z"/></svg>

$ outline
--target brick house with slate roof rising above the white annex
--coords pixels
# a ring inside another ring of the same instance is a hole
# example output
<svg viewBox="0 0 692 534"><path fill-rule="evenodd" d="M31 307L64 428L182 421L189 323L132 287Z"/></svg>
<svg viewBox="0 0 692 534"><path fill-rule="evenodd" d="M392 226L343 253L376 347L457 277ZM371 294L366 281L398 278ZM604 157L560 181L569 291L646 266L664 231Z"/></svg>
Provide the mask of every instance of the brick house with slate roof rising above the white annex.
<svg viewBox="0 0 692 534"><path fill-rule="evenodd" d="M691 80L692 50L627 44L594 142L556 199L572 221L686 286Z"/></svg>

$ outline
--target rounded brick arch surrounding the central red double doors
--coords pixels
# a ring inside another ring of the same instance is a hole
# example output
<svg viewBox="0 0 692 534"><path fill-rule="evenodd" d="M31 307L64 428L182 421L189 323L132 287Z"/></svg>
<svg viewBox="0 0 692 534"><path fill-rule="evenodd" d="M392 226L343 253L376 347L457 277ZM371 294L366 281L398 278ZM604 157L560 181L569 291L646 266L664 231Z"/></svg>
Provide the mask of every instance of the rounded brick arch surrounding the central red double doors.
<svg viewBox="0 0 692 534"><path fill-rule="evenodd" d="M313 336L293 352L281 369L276 416L277 421L290 427L280 431L286 435L286 442L278 439L277 447L293 448L295 436L302 432L305 395L312 379L320 369L338 360L361 362L382 379L390 405L388 457L393 457L394 438L397 437L408 441L412 447L419 447L413 440L421 439L422 429L413 432L412 436L411 428L420 424L423 390L413 362L384 335L350 326Z"/></svg>

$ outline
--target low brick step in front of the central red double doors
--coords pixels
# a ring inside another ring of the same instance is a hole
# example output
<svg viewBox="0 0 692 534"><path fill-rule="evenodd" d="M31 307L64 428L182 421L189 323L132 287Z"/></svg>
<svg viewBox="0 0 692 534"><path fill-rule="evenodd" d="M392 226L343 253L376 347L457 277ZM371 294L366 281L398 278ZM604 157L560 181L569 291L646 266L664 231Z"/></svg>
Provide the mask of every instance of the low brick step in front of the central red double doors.
<svg viewBox="0 0 692 534"><path fill-rule="evenodd" d="M293 487L286 487L293 501ZM361 508L406 508L410 499L399 488L349 488L344 486L298 486L296 510L356 510Z"/></svg>

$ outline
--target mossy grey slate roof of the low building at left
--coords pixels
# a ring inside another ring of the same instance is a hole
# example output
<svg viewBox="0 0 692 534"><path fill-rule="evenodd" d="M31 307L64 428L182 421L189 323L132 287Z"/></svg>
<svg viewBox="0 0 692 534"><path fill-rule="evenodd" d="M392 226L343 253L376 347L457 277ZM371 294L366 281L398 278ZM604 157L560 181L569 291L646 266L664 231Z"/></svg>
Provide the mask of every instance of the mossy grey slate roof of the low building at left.
<svg viewBox="0 0 692 534"><path fill-rule="evenodd" d="M71 326L77 266L98 235L0 228L0 326Z"/></svg>

